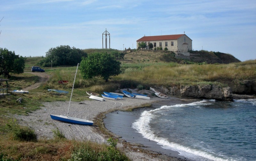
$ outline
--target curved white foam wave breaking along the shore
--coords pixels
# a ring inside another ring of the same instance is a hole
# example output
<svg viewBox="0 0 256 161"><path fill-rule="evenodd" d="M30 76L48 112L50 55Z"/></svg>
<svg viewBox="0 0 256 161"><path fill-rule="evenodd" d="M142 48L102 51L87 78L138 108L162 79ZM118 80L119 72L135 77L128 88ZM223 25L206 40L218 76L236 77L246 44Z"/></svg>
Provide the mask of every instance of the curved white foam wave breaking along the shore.
<svg viewBox="0 0 256 161"><path fill-rule="evenodd" d="M175 150L180 152L182 156L185 157L190 157L191 159L196 159L198 160L199 158L196 156L200 156L202 158L206 158L207 160L214 160L214 161L227 161L227 160L234 160L232 158L228 158L225 156L218 157L216 154L213 152L207 151L207 150L199 150L191 147L185 147L183 145L177 144L177 143L170 143L167 141L167 139L157 137L151 130L149 123L151 119L154 117L152 115L152 112L161 110L163 108L174 108L174 107L181 107L181 106L195 106L200 103L205 103L205 100L199 101L199 102L194 102L191 104L181 104L181 105L174 105L174 106L162 106L160 108L150 110L150 111L144 111L141 113L141 117L133 123L132 128L136 129L139 133L143 135L143 137L153 140L157 142L158 144L166 147L169 147L171 150ZM167 149L167 148L166 148ZM192 155L191 155L192 154ZM204 159L203 159L204 160Z"/></svg>

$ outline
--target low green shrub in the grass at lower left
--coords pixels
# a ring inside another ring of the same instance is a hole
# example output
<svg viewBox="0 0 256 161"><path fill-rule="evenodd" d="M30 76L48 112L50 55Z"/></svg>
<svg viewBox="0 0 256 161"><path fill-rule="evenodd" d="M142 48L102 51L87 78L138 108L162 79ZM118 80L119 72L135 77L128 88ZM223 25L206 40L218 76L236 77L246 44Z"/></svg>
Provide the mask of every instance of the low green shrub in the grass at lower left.
<svg viewBox="0 0 256 161"><path fill-rule="evenodd" d="M6 129L9 130L14 140L18 141L36 141L37 136L35 131L28 127L20 127L17 120L10 119L6 124Z"/></svg>

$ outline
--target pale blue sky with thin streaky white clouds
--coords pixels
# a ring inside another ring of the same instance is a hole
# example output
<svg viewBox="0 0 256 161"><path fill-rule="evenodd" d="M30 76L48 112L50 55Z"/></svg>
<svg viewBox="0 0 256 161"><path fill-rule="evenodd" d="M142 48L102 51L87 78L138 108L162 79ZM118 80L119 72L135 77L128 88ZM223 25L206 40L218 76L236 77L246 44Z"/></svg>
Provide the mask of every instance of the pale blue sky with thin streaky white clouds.
<svg viewBox="0 0 256 161"><path fill-rule="evenodd" d="M0 48L16 55L45 56L60 45L102 48L107 28L110 48L118 50L136 48L144 35L185 31L194 50L256 59L255 0L1 0L0 5Z"/></svg>

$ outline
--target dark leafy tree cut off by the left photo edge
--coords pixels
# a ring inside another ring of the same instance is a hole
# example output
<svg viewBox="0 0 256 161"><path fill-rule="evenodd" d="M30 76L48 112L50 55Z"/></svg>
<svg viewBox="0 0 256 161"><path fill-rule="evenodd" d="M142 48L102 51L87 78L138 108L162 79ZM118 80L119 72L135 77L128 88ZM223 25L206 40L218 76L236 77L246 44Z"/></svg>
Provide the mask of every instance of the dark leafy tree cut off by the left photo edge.
<svg viewBox="0 0 256 161"><path fill-rule="evenodd" d="M9 73L20 74L24 72L25 57L15 55L15 52L0 48L0 75L10 78Z"/></svg>

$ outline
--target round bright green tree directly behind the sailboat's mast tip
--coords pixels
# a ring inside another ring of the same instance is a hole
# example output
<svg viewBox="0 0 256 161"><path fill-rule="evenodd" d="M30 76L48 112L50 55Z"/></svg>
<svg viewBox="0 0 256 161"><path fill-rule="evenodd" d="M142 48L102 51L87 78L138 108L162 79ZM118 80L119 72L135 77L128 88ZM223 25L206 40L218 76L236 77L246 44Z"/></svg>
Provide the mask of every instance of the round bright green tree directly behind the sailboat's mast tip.
<svg viewBox="0 0 256 161"><path fill-rule="evenodd" d="M96 52L82 58L80 72L85 79L102 77L105 82L108 82L108 79L111 79L110 76L121 73L120 64L121 62L117 61L113 55Z"/></svg>

